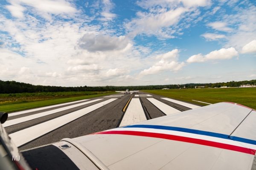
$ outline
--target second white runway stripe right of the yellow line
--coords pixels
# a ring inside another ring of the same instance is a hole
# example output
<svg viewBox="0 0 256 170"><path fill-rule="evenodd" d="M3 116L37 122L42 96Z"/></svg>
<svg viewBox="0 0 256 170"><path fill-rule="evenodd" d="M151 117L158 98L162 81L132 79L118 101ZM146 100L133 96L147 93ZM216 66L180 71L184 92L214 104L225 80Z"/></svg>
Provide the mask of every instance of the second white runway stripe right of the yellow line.
<svg viewBox="0 0 256 170"><path fill-rule="evenodd" d="M157 99L154 98L147 98L148 101L150 101L152 104L155 105L158 109L160 109L162 112L164 112L166 115L171 115L180 112L180 110L175 109L167 104L164 104L161 101L158 101Z"/></svg>

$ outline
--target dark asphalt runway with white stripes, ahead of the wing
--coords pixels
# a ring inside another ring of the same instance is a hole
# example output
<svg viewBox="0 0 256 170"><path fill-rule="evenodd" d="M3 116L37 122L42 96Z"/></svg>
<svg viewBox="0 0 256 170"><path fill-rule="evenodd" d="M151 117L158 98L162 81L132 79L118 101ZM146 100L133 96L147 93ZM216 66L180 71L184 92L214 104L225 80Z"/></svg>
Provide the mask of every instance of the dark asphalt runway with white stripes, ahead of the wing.
<svg viewBox="0 0 256 170"><path fill-rule="evenodd" d="M19 150L26 150L200 107L171 101L143 92L118 93L9 113L3 126Z"/></svg>

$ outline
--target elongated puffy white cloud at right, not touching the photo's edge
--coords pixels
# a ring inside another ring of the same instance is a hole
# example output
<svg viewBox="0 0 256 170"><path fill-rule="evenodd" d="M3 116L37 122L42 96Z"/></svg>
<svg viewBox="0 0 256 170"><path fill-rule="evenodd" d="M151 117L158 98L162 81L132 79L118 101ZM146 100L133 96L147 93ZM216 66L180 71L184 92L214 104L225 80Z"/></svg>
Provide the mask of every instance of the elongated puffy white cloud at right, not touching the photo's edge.
<svg viewBox="0 0 256 170"><path fill-rule="evenodd" d="M231 59L233 57L238 56L238 52L235 48L230 47L228 49L219 49L210 52L207 55L192 55L187 59L188 63L196 63L196 62L205 62L205 61L212 61L212 60L225 60L225 59Z"/></svg>

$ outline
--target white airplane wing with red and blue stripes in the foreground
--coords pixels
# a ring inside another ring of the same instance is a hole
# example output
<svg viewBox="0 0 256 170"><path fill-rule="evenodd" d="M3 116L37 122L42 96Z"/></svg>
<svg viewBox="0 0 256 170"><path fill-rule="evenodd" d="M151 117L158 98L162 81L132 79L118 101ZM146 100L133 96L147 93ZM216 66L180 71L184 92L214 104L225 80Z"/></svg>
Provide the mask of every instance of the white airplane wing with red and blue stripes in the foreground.
<svg viewBox="0 0 256 170"><path fill-rule="evenodd" d="M40 156L44 150L48 155L58 150L66 164L85 170L251 170L256 168L255 122L255 110L218 103L22 153L38 169L58 161L58 156L52 163L50 156Z"/></svg>

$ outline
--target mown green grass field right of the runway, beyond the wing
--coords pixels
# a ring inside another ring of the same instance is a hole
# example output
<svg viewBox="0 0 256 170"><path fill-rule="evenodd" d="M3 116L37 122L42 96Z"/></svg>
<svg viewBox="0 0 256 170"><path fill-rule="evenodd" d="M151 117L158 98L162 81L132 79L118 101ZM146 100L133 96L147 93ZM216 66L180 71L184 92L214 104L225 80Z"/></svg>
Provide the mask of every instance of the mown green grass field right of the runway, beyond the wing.
<svg viewBox="0 0 256 170"><path fill-rule="evenodd" d="M256 109L256 88L227 88L227 89L168 89L168 90L143 90L143 92L162 95L168 98L189 101L203 101L207 103L218 103L223 101L234 102Z"/></svg>

